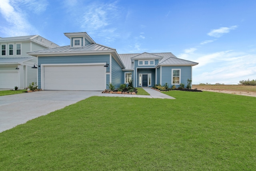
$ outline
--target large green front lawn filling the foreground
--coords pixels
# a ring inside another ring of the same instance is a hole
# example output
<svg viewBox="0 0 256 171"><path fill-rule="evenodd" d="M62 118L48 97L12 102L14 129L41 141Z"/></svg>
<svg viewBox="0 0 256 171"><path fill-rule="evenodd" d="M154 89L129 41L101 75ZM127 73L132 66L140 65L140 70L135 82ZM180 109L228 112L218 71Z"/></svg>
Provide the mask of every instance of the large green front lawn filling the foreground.
<svg viewBox="0 0 256 171"><path fill-rule="evenodd" d="M0 133L1 170L255 170L256 98L90 97Z"/></svg>

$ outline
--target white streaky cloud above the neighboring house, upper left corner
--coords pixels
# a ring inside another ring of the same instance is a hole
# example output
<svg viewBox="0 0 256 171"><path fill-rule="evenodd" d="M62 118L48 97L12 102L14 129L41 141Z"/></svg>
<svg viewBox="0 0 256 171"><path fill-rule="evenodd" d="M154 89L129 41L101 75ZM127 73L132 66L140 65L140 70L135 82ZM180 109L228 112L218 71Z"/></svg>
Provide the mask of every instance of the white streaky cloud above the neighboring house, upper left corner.
<svg viewBox="0 0 256 171"><path fill-rule="evenodd" d="M0 3L0 13L10 25L1 25L0 30L4 36L24 36L34 34L36 30L27 21L26 13L9 0L2 0Z"/></svg>

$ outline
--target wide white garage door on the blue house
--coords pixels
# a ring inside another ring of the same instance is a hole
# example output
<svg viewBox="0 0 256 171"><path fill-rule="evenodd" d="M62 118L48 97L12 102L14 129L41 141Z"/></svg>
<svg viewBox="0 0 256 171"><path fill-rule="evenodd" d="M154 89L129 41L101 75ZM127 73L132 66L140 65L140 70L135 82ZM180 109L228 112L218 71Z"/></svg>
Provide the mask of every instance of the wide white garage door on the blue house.
<svg viewBox="0 0 256 171"><path fill-rule="evenodd" d="M102 91L104 74L102 65L44 66L44 89Z"/></svg>

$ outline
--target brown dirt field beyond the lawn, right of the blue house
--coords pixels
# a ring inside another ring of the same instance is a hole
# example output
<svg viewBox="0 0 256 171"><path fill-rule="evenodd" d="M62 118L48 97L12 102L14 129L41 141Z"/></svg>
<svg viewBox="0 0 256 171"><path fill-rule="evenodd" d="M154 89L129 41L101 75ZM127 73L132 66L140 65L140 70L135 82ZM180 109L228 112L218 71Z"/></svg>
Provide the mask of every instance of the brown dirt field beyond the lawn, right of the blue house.
<svg viewBox="0 0 256 171"><path fill-rule="evenodd" d="M219 93L229 93L236 95L247 95L256 97L256 86L246 85L192 85L192 89L202 91L214 91Z"/></svg>

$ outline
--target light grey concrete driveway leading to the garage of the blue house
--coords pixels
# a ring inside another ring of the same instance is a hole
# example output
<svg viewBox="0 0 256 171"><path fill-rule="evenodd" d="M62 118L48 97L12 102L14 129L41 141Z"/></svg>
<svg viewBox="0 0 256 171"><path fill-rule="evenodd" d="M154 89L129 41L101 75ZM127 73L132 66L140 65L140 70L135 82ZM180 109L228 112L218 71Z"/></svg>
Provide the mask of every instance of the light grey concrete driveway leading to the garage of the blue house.
<svg viewBox="0 0 256 171"><path fill-rule="evenodd" d="M100 93L101 91L35 91L0 96L0 132Z"/></svg>

